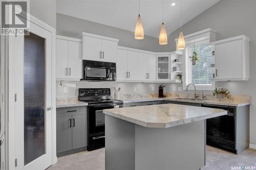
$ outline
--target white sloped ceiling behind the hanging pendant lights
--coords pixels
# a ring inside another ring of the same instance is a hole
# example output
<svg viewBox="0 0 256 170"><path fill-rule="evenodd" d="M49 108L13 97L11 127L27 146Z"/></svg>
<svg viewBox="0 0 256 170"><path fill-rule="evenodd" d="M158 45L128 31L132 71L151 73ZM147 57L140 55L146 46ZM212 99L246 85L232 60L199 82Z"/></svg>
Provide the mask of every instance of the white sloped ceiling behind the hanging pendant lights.
<svg viewBox="0 0 256 170"><path fill-rule="evenodd" d="M183 0L183 24L220 0ZM57 0L57 12L104 25L134 31L138 0ZM172 7L171 4L176 3ZM144 34L158 37L162 23L162 0L140 0ZM167 34L180 28L180 0L164 0L164 25Z"/></svg>

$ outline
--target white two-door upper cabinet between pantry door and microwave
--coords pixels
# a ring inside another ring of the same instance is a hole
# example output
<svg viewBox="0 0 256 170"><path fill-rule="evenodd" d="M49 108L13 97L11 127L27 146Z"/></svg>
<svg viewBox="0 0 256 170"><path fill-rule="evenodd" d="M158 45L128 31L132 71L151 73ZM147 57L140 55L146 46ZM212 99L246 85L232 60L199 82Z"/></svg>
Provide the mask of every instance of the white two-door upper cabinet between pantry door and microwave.
<svg viewBox="0 0 256 170"><path fill-rule="evenodd" d="M82 78L82 41L56 36L56 79L80 80Z"/></svg>

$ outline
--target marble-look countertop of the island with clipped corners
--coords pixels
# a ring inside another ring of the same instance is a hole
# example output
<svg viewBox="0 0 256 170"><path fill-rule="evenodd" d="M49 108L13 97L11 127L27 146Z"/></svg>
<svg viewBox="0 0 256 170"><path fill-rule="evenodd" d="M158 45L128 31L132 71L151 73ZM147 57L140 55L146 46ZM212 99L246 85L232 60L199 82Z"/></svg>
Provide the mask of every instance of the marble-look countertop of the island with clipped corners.
<svg viewBox="0 0 256 170"><path fill-rule="evenodd" d="M215 108L162 104L116 109L103 113L147 128L169 128L227 114Z"/></svg>

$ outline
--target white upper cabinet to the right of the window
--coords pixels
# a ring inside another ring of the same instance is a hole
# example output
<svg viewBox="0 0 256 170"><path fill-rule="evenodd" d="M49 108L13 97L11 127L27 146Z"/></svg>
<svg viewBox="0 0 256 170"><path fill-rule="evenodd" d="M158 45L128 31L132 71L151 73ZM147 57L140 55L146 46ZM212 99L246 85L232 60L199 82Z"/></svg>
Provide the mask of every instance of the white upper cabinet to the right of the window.
<svg viewBox="0 0 256 170"><path fill-rule="evenodd" d="M213 81L248 80L249 41L244 35L211 42L215 69Z"/></svg>

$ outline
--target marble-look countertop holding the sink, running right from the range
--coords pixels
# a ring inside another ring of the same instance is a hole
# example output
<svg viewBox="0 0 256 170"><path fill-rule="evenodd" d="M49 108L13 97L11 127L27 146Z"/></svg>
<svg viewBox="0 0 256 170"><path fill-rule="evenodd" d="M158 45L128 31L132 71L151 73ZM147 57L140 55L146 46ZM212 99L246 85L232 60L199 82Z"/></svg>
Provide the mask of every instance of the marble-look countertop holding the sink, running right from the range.
<svg viewBox="0 0 256 170"><path fill-rule="evenodd" d="M250 105L250 101L217 101L217 100L204 100L204 101L194 101L194 100L181 100L175 98L142 98L142 99L127 99L123 100L123 103L134 103L134 102L151 102L151 101L177 101L177 102L188 102L188 103L201 103L201 104L211 104L211 105L223 105L223 106L246 106Z"/></svg>

